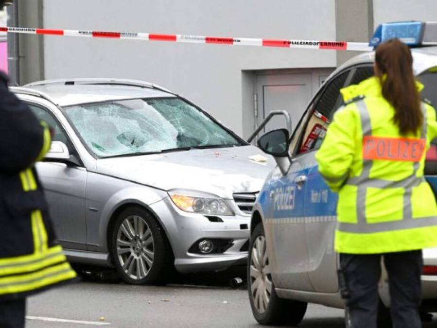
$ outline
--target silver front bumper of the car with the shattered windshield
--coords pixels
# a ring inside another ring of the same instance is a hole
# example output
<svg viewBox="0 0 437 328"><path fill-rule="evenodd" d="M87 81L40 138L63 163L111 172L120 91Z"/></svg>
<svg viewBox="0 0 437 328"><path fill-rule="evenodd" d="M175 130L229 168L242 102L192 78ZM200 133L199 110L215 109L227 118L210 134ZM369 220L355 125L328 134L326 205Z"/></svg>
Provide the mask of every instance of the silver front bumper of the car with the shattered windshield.
<svg viewBox="0 0 437 328"><path fill-rule="evenodd" d="M228 201L230 203L231 201ZM232 204L228 204L235 209ZM203 214L184 212L176 208L169 197L153 204L175 255L175 268L181 273L220 271L232 265L244 264L250 235L250 215L217 215L220 221L211 222ZM237 210L234 212L238 213ZM201 239L230 239L232 244L223 253L196 254L189 251Z"/></svg>

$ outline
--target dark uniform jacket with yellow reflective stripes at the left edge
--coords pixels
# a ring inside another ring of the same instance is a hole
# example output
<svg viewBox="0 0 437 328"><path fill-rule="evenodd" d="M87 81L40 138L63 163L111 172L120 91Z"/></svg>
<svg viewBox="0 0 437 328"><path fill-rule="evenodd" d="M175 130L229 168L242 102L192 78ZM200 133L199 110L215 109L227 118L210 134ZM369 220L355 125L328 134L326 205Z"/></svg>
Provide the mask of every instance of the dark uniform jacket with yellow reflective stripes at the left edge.
<svg viewBox="0 0 437 328"><path fill-rule="evenodd" d="M0 72L0 300L24 297L76 276L55 243L34 164L50 131L8 90Z"/></svg>

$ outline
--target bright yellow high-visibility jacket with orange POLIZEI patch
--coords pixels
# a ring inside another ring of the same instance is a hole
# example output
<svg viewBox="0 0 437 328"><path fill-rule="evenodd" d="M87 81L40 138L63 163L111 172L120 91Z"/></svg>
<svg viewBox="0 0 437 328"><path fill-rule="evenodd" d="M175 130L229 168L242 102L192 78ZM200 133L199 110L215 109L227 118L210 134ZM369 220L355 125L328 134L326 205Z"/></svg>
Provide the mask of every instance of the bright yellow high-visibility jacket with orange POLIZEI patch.
<svg viewBox="0 0 437 328"><path fill-rule="evenodd" d="M341 93L346 105L335 113L315 155L319 172L339 196L335 251L378 254L437 246L436 199L423 177L426 151L437 137L434 108L422 103L423 126L401 136L378 78Z"/></svg>

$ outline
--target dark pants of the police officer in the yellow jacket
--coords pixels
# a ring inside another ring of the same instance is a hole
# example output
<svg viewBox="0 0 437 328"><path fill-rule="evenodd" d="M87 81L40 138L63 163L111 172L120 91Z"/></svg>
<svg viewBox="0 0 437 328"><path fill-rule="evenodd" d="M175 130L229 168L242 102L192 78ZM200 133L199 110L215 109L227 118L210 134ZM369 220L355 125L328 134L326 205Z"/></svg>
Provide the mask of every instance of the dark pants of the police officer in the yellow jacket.
<svg viewBox="0 0 437 328"><path fill-rule="evenodd" d="M384 257L394 328L420 328L422 251L371 255L340 254L349 297L345 299L353 328L376 328L378 282Z"/></svg>

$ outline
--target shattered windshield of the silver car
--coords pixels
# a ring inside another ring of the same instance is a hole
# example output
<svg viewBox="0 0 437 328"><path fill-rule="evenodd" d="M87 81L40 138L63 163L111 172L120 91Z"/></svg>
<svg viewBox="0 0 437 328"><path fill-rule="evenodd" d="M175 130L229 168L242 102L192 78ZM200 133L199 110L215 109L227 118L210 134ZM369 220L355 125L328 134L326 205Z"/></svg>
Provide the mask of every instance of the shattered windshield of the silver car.
<svg viewBox="0 0 437 328"><path fill-rule="evenodd" d="M179 98L149 98L66 107L74 127L100 157L242 145Z"/></svg>

